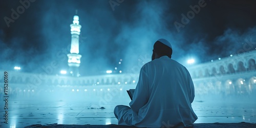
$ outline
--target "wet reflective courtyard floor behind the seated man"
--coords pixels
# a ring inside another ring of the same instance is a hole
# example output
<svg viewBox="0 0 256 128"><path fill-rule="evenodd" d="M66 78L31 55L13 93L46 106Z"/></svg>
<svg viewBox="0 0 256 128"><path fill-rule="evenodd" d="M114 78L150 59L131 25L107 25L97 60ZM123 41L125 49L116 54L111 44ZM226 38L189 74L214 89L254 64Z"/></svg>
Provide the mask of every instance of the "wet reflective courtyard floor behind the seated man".
<svg viewBox="0 0 256 128"><path fill-rule="evenodd" d="M112 93L46 93L45 95L11 96L8 124L0 127L24 127L32 124L117 124L113 109L129 105L126 89ZM31 92L31 91L30 91ZM57 91L54 91L57 92ZM256 123L256 95L196 95L193 109L195 123ZM105 99L105 102L100 102ZM3 108L0 114L4 115Z"/></svg>

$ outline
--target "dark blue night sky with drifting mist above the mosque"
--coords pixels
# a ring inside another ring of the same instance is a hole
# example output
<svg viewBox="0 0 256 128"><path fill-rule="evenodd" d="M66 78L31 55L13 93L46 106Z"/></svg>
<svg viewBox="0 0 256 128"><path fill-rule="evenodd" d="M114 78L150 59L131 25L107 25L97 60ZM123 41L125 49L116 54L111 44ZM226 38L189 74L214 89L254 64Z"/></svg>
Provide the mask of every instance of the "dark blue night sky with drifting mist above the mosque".
<svg viewBox="0 0 256 128"><path fill-rule="evenodd" d="M26 7L19 1L0 2L0 70L20 66L23 72L40 73L52 62L57 67L51 74L68 70L75 10L82 26L82 76L141 67L142 61L151 60L159 38L171 42L172 57L181 63L190 57L208 62L256 48L256 1L21 2Z"/></svg>

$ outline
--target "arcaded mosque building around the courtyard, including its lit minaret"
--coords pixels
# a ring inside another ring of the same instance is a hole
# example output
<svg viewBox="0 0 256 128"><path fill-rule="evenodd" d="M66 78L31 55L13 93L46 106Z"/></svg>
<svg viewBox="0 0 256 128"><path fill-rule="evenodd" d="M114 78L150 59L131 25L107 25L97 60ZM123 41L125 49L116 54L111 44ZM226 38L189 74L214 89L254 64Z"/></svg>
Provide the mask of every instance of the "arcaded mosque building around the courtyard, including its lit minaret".
<svg viewBox="0 0 256 128"><path fill-rule="evenodd" d="M9 94L40 95L42 92L108 92L123 91L136 87L139 74L102 74L80 76L79 16L73 17L71 27L71 49L68 66L71 75L46 75L46 73L24 73L8 71ZM196 95L251 95L256 93L256 50L230 55L211 62L187 67L195 84ZM4 72L4 71L1 71ZM4 74L0 74L3 81ZM3 88L0 88L3 91ZM38 94L40 93L40 94ZM98 94L98 93L95 93Z"/></svg>

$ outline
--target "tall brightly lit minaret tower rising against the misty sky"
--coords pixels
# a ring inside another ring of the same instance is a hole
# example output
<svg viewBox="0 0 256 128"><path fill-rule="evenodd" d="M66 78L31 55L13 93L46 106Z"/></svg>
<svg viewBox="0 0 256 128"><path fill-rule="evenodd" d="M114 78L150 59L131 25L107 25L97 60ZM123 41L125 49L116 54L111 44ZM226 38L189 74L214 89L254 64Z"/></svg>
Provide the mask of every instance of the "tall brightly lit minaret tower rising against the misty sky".
<svg viewBox="0 0 256 128"><path fill-rule="evenodd" d="M82 55L79 54L79 35L82 26L79 25L79 17L77 15L75 15L73 19L73 24L70 25L71 48L70 54L68 54L68 65L70 74L78 77L80 75L78 69L80 66L80 58L82 57Z"/></svg>

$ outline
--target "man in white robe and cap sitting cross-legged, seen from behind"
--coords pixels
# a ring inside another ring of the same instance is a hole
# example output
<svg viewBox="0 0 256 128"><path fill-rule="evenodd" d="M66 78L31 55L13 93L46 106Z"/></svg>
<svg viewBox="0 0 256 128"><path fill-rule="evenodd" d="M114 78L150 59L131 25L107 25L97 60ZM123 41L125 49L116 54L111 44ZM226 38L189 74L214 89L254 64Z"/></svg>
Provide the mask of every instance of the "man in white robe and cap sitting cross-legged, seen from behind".
<svg viewBox="0 0 256 128"><path fill-rule="evenodd" d="M120 125L137 127L193 127L197 120L191 103L194 84L187 69L171 59L172 45L165 39L154 44L152 61L140 70L129 106L117 105Z"/></svg>

